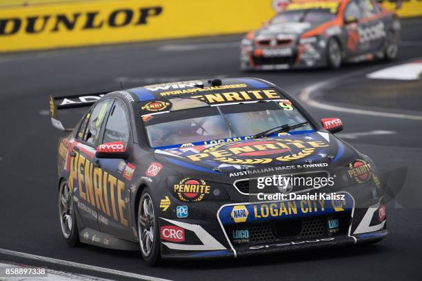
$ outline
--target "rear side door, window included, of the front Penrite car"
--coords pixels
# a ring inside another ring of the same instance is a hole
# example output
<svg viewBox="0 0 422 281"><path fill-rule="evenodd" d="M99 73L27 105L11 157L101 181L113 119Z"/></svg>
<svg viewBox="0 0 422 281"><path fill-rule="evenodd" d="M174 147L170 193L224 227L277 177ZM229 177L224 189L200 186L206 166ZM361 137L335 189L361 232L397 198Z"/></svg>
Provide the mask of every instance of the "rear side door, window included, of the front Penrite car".
<svg viewBox="0 0 422 281"><path fill-rule="evenodd" d="M78 213L84 226L96 230L99 229L97 205L101 185L95 180L99 172L93 164L101 126L111 103L111 99L101 101L84 116L70 154L69 184L74 191Z"/></svg>

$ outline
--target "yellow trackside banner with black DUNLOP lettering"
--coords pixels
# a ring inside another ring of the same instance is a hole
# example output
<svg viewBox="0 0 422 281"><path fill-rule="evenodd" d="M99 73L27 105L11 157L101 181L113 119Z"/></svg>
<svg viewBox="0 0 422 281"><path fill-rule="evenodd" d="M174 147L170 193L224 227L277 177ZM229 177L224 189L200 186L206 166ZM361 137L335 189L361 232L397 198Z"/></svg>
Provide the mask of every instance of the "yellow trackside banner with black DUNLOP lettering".
<svg viewBox="0 0 422 281"><path fill-rule="evenodd" d="M271 0L126 0L0 10L0 52L234 34L274 14Z"/></svg>

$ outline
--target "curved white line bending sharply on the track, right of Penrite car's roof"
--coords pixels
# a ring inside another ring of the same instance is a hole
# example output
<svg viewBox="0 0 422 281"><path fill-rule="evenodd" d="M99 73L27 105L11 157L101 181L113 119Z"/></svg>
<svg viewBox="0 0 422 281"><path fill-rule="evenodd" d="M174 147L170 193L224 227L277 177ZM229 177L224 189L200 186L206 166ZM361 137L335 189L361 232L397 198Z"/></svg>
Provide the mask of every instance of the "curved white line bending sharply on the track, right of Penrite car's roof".
<svg viewBox="0 0 422 281"><path fill-rule="evenodd" d="M392 112L378 112L378 111L372 111L372 110L358 110L354 108L329 105L327 103L320 103L319 101L314 101L312 99L312 94L316 92L316 90L319 90L322 87L325 87L326 85L330 83L333 83L335 80L336 79L330 79L328 81L323 81L320 83L316 83L314 85L310 85L309 87L305 87L305 89L303 89L302 92L299 94L299 100L301 100L303 103L307 103L308 105L319 108L321 110L345 112L345 113L351 113L351 114L370 115L370 116L376 116L376 117L401 118L401 119L422 121L422 116L420 115L399 114L399 113L392 113Z"/></svg>

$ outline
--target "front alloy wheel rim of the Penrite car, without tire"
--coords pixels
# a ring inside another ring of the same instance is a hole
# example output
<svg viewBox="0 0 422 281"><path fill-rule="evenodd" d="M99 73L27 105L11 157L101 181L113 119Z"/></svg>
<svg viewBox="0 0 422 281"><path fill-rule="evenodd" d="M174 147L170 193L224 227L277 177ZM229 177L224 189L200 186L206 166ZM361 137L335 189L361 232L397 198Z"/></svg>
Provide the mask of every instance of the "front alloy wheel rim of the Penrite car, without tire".
<svg viewBox="0 0 422 281"><path fill-rule="evenodd" d="M155 222L154 206L149 194L143 196L139 207L138 233L143 256L150 256L154 245Z"/></svg>

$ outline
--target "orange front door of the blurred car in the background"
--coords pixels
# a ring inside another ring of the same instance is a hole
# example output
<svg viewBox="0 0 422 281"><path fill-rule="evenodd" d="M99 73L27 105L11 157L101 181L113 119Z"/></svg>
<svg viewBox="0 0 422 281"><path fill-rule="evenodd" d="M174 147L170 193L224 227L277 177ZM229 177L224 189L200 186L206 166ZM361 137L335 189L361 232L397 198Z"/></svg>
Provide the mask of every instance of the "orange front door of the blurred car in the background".
<svg viewBox="0 0 422 281"><path fill-rule="evenodd" d="M343 21L346 33L345 54L348 58L357 56L363 51L360 45L359 30L364 28L361 22L361 10L356 0L352 0L345 8Z"/></svg>

